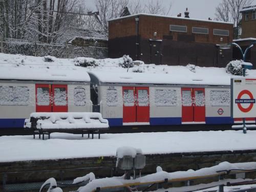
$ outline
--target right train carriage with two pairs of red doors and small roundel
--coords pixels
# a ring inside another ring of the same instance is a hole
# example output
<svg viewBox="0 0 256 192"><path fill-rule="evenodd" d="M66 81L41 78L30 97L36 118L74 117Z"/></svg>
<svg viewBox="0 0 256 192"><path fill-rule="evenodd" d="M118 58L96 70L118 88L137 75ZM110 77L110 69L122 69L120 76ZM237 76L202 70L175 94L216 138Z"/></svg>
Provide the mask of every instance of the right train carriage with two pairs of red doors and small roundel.
<svg viewBox="0 0 256 192"><path fill-rule="evenodd" d="M111 126L232 124L230 77L89 72Z"/></svg>

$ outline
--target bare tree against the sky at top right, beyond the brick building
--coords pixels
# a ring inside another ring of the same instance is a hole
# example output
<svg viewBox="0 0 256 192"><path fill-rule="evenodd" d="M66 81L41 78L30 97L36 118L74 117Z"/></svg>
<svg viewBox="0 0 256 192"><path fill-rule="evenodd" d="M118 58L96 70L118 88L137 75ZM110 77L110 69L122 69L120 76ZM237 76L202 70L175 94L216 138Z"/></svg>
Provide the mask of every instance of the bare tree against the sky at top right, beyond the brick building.
<svg viewBox="0 0 256 192"><path fill-rule="evenodd" d="M234 31L234 37L238 38L238 28L242 19L241 9L251 5L252 0L223 0L216 8L216 19L224 22L232 22L237 29Z"/></svg>

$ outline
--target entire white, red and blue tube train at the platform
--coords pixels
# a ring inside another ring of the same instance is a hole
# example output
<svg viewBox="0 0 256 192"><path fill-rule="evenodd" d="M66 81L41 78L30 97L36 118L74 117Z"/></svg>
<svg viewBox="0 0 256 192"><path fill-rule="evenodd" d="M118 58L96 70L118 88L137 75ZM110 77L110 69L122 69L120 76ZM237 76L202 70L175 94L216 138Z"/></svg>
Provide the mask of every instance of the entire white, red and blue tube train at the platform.
<svg viewBox="0 0 256 192"><path fill-rule="evenodd" d="M191 78L86 69L29 69L28 73L2 68L0 128L23 127L32 112L100 112L109 120L110 131L116 132L125 127L230 128L240 121L230 115L230 76ZM255 123L254 118L247 120Z"/></svg>

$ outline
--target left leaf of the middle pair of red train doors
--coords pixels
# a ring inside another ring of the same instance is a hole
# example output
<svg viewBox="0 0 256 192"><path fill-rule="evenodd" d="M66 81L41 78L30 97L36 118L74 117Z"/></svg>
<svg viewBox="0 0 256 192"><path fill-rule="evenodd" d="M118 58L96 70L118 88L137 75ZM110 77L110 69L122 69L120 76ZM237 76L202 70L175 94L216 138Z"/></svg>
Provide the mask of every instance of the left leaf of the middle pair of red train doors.
<svg viewBox="0 0 256 192"><path fill-rule="evenodd" d="M123 122L136 122L135 87L123 87Z"/></svg>

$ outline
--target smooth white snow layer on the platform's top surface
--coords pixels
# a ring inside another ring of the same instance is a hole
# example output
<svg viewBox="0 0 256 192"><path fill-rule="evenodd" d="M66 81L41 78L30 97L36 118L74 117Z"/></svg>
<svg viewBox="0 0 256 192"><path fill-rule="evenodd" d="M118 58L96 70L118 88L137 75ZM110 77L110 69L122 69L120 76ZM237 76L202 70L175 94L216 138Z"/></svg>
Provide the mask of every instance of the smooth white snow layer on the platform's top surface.
<svg viewBox="0 0 256 192"><path fill-rule="evenodd" d="M143 154L255 150L256 131L161 132L81 135L52 133L51 139L1 136L0 162L116 156L118 147L141 148Z"/></svg>

